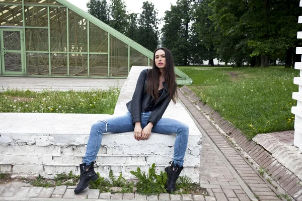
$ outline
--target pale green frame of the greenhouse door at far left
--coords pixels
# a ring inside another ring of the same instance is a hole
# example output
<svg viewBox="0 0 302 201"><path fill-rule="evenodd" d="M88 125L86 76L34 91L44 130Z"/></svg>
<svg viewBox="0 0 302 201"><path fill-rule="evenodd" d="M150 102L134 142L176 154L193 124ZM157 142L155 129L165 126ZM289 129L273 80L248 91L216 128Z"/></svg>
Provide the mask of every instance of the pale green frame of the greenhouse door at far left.
<svg viewBox="0 0 302 201"><path fill-rule="evenodd" d="M20 32L20 47L21 50L4 50L4 34L3 32L9 32L9 31L14 31L14 32ZM0 43L1 43L1 69L2 75L24 75L25 72L25 56L24 56L24 34L23 34L23 29L22 28L0 28L1 32L1 38L0 38ZM6 53L20 53L21 54L21 71L5 71L5 54Z"/></svg>

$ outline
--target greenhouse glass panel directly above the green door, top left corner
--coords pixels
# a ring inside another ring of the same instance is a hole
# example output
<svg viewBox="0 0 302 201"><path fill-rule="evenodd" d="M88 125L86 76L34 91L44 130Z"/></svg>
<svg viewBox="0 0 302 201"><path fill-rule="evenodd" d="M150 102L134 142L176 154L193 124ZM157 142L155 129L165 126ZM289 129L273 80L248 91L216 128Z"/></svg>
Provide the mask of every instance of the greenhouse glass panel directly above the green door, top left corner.
<svg viewBox="0 0 302 201"><path fill-rule="evenodd" d="M0 25L23 26L22 6L0 6Z"/></svg>

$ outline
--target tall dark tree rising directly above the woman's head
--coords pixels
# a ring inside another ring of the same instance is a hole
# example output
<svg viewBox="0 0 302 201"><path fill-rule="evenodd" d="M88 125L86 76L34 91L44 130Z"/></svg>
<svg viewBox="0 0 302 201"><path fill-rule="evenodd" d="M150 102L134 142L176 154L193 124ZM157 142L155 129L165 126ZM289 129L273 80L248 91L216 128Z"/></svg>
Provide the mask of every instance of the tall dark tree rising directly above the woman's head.
<svg viewBox="0 0 302 201"><path fill-rule="evenodd" d="M150 51L154 51L158 47L159 31L157 19L157 10L154 4L143 2L142 12L138 20L139 34L137 42Z"/></svg>

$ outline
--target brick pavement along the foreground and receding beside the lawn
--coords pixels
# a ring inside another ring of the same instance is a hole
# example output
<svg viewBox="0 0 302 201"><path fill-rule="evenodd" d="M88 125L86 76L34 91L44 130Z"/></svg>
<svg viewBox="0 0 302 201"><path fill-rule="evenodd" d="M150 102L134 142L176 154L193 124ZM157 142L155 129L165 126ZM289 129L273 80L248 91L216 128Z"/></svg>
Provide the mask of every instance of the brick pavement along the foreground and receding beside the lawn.
<svg viewBox="0 0 302 201"><path fill-rule="evenodd" d="M0 186L0 200L280 200L276 197L276 191L263 179L258 171L246 160L242 154L226 139L205 116L182 94L179 98L196 120L196 125L203 134L202 157L199 168L200 185L205 187L209 196L203 195L178 195L160 194L159 196L139 195L136 193L99 193L95 189L86 189L83 193L75 195L74 186L56 186L53 188L33 187L22 182L11 182ZM205 106L207 107L207 106ZM210 108L204 110L207 114L213 114ZM275 177L280 174L288 174L282 183L290 185L289 180L294 180L285 169L277 165L277 162L270 162L270 156L255 147L254 142L247 142L240 132L232 128L228 122L219 119L214 114L217 122L220 122L224 131L237 136L236 142L249 148L249 153L257 161L266 162L265 165L274 170ZM235 136L235 137L236 137ZM281 178L280 178L281 179ZM296 180L297 181L297 180ZM291 191L297 192L300 189L296 186ZM257 197L257 198L256 198ZM296 199L302 200L302 199Z"/></svg>

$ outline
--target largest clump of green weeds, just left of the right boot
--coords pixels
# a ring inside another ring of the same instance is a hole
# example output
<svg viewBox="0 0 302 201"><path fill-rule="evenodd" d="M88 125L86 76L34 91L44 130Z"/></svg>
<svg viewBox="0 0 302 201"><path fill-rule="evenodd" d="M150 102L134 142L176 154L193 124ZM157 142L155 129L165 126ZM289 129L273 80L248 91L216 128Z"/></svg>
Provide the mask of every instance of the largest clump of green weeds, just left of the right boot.
<svg viewBox="0 0 302 201"><path fill-rule="evenodd" d="M150 195L167 192L165 187L167 173L161 171L159 175L156 174L155 163L149 168L148 174L141 172L139 167L137 167L136 171L130 171L130 173L138 179L138 182L135 185L138 193Z"/></svg>

